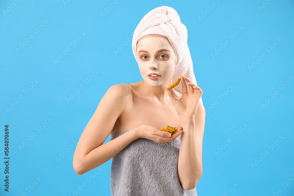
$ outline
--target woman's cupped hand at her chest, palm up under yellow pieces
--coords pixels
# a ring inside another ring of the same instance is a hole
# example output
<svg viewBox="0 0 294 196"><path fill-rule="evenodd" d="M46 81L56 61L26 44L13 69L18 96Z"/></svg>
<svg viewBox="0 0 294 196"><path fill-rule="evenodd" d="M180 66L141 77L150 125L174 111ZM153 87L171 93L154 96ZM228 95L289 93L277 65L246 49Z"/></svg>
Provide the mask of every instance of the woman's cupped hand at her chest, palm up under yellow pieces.
<svg viewBox="0 0 294 196"><path fill-rule="evenodd" d="M175 140L181 133L183 133L182 127L173 127L178 131L177 133L171 135L167 131L161 131L152 125L141 125L134 129L136 138L146 138L152 140L156 143L171 142Z"/></svg>

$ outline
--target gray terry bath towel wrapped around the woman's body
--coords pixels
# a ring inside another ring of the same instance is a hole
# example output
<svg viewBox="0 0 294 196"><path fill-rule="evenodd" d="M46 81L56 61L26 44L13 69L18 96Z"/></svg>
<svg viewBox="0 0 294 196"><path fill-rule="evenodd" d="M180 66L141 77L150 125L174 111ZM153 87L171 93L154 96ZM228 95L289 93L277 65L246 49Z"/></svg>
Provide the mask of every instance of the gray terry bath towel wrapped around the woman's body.
<svg viewBox="0 0 294 196"><path fill-rule="evenodd" d="M126 133L111 136L113 140ZM156 143L146 138L131 142L112 158L112 196L197 196L196 187L184 190L178 178L181 139Z"/></svg>

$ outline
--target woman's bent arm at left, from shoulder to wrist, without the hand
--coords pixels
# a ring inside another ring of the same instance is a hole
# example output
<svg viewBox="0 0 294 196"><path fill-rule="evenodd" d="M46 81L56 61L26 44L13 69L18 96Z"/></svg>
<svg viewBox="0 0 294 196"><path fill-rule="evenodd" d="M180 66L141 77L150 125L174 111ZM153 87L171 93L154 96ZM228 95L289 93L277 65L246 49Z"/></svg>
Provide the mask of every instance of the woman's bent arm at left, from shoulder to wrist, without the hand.
<svg viewBox="0 0 294 196"><path fill-rule="evenodd" d="M101 99L95 113L83 130L78 141L73 158L73 168L78 175L82 175L110 160L132 141L134 131L115 138L105 144L116 120L123 112L124 97L121 84L111 86Z"/></svg>

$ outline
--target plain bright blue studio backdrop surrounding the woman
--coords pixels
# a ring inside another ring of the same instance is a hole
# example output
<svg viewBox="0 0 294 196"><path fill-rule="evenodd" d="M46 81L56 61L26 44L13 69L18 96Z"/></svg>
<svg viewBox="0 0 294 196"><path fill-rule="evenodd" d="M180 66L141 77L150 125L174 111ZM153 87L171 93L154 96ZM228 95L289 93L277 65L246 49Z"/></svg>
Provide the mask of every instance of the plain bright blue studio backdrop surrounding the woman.
<svg viewBox="0 0 294 196"><path fill-rule="evenodd" d="M194 72L203 90L206 123L198 195L225 195L228 191L232 196L270 196L279 188L279 195L294 195L294 181L289 180L292 174L294 179L294 82L289 78L294 73L293 1L118 0L103 17L101 13L114 1L15 2L0 2L0 146L5 157L4 125L8 124L10 157L9 193L3 188L3 159L0 195L67 196L84 182L87 186L78 195L110 195L112 159L98 167L96 176L96 169L77 175L72 167L74 150L108 88L143 80L131 41L126 40L132 40L143 16L163 5L174 8L188 29ZM36 34L34 29L43 20L48 22ZM239 25L244 29L238 32ZM80 32L86 35L73 47L71 42ZM233 39L231 33L235 33ZM30 35L33 39L17 51ZM277 45L276 38L281 40ZM225 41L229 44L219 48ZM114 55L123 42L126 46ZM268 50L272 44L275 48ZM53 60L67 47L71 50L54 65ZM220 52L215 53L218 48ZM212 53L217 55L212 57ZM263 53L266 56L258 63ZM250 69L252 61L257 64ZM93 70L100 73L84 82ZM30 86L33 80L39 82ZM80 85L83 90L67 102ZM233 86L230 92L229 86ZM30 92L23 90L31 87ZM20 95L23 98L6 110ZM269 104L262 107L266 100ZM38 133L36 127L47 122L46 117L52 120ZM240 130L242 123L246 127ZM238 129L241 132L234 136ZM20 149L34 132L36 137ZM280 142L279 136L284 137ZM105 142L109 140L110 136ZM231 142L226 143L228 140ZM260 154L266 150L268 155L262 158ZM261 162L253 166L255 159ZM89 175L95 178L90 181ZM36 177L40 177L39 184L29 189ZM283 186L287 180L290 184ZM237 184L233 190L231 183Z"/></svg>

